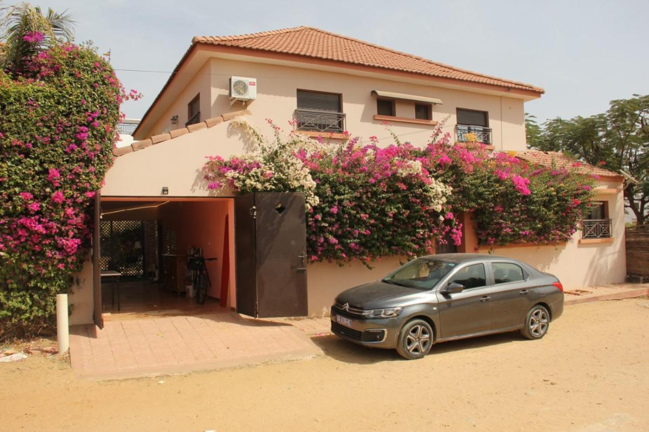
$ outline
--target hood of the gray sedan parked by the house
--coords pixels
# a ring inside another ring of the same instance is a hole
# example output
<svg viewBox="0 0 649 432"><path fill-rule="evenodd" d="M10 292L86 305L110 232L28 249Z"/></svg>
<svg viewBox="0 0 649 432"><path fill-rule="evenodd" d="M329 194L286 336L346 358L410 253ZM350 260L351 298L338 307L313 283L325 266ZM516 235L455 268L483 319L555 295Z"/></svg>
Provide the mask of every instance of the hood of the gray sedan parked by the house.
<svg viewBox="0 0 649 432"><path fill-rule="evenodd" d="M381 307L401 306L401 304L423 296L425 291L402 287L381 281L363 283L347 289L336 297L337 303L349 303L359 309L379 309Z"/></svg>

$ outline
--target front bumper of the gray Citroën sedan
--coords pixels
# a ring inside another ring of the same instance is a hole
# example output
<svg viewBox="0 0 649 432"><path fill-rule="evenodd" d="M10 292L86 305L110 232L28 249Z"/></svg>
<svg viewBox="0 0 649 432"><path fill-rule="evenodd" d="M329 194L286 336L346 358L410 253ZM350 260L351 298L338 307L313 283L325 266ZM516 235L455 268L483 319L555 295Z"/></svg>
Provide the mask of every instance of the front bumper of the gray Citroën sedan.
<svg viewBox="0 0 649 432"><path fill-rule="evenodd" d="M402 324L400 317L361 318L339 311L336 307L331 308L332 333L364 346L396 348Z"/></svg>

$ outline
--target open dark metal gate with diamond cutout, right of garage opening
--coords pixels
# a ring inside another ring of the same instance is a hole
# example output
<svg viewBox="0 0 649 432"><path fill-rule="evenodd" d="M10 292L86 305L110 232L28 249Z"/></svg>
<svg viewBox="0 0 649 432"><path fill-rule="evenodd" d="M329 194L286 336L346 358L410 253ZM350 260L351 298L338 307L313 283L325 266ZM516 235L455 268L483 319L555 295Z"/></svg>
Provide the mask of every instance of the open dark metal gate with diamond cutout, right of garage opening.
<svg viewBox="0 0 649 432"><path fill-rule="evenodd" d="M307 315L304 195L251 193L236 197L234 210L237 311Z"/></svg>

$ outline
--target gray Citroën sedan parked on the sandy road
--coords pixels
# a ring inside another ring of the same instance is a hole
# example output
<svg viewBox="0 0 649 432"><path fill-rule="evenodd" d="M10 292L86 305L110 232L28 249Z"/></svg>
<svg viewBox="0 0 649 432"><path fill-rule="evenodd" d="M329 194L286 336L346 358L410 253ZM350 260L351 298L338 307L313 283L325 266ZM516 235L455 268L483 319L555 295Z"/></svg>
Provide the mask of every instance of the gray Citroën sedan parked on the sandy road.
<svg viewBox="0 0 649 432"><path fill-rule="evenodd" d="M515 330L541 339L561 313L563 286L552 274L511 258L439 254L343 291L331 308L331 329L419 359L436 342Z"/></svg>

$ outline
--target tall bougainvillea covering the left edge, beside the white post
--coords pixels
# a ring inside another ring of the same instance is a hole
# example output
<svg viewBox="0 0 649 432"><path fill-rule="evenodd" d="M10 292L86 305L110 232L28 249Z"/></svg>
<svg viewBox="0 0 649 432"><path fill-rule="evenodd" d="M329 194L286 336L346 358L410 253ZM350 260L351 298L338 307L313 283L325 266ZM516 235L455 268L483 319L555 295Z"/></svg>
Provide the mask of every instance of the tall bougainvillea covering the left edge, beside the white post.
<svg viewBox="0 0 649 432"><path fill-rule="evenodd" d="M55 296L88 252L90 206L130 96L88 46L0 71L0 339L53 325Z"/></svg>

